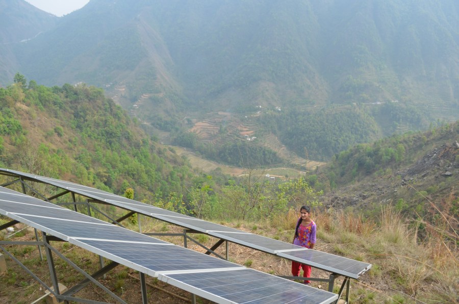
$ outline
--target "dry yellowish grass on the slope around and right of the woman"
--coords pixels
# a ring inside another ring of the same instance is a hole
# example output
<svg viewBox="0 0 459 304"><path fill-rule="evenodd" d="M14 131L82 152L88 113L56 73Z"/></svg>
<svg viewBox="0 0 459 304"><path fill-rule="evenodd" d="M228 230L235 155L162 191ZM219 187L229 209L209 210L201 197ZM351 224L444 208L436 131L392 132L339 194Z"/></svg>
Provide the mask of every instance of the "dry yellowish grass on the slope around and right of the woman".
<svg viewBox="0 0 459 304"><path fill-rule="evenodd" d="M459 239L451 241L451 217L439 218L444 220L435 227L423 222L429 237L421 242L419 225L410 225L390 205L381 208L378 221L354 213L316 211L316 248L373 265L360 282L352 282L353 303L458 303ZM293 234L296 219L297 213L290 212L272 224Z"/></svg>

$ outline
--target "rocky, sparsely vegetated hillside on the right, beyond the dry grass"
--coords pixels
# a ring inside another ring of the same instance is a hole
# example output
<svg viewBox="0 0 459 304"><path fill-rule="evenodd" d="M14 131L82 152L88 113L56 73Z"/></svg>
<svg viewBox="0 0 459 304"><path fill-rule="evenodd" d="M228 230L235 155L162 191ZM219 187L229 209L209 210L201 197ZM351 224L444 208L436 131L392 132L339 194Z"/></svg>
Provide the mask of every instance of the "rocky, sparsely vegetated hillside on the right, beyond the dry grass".
<svg viewBox="0 0 459 304"><path fill-rule="evenodd" d="M456 222L459 121L354 146L315 174L327 208L373 218L381 206L392 205L407 218L435 221L441 211ZM452 205L445 205L448 199Z"/></svg>

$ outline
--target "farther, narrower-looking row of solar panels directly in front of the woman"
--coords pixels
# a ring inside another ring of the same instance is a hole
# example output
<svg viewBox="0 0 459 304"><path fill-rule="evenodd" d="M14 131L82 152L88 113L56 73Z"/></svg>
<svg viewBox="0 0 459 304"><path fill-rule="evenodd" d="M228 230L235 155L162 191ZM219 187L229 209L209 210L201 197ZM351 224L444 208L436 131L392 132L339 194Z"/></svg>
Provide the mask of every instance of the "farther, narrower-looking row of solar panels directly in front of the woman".
<svg viewBox="0 0 459 304"><path fill-rule="evenodd" d="M108 204L118 206L123 209L135 211L146 216L185 227L187 229L195 230L216 238L231 241L236 244L267 252L272 255L277 255L289 260L308 264L313 267L341 274L347 277L355 279L359 278L362 273L371 268L371 264L368 263L355 261L352 259L328 254L326 252L307 249L283 241L243 232L241 230L226 227L224 225L219 225L173 211L150 206L133 199L125 198L123 196L115 195L91 187L9 169L0 168L0 172L4 172L6 174L14 174L21 176L22 178L54 185L92 199L105 201Z"/></svg>

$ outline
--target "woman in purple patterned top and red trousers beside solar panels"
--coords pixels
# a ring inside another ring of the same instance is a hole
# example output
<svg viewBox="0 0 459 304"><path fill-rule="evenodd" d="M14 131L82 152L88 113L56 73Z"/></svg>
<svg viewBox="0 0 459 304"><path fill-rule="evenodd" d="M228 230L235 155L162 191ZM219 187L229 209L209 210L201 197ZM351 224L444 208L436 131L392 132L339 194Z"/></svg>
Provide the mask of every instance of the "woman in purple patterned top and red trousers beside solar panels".
<svg viewBox="0 0 459 304"><path fill-rule="evenodd" d="M311 219L311 207L301 206L300 214L296 223L293 244L313 249L316 243L316 223ZM301 268L303 268L303 277L311 277L311 266L292 261L293 276L299 276ZM306 285L309 283L311 281L304 281Z"/></svg>

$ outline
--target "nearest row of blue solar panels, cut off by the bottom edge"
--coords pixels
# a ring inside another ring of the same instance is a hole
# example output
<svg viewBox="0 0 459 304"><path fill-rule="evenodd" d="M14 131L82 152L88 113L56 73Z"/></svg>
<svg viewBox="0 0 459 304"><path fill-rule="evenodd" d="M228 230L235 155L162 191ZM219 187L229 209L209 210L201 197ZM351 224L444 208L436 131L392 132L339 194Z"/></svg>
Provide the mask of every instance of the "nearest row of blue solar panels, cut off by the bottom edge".
<svg viewBox="0 0 459 304"><path fill-rule="evenodd" d="M338 298L4 187L0 214L217 303L330 303Z"/></svg>

